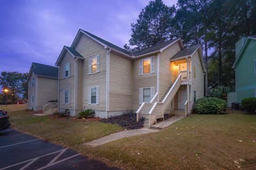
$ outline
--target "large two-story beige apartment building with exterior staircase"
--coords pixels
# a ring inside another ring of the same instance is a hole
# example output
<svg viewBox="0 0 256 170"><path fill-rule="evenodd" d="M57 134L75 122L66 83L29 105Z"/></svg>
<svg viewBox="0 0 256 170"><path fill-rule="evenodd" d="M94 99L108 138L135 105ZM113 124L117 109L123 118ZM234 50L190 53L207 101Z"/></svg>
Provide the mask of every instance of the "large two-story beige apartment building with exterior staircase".
<svg viewBox="0 0 256 170"><path fill-rule="evenodd" d="M183 114L204 96L202 49L184 48L180 38L130 53L80 29L56 65L59 110L69 109L72 116L87 108L100 117L130 110L141 117L150 109L157 115L160 108Z"/></svg>

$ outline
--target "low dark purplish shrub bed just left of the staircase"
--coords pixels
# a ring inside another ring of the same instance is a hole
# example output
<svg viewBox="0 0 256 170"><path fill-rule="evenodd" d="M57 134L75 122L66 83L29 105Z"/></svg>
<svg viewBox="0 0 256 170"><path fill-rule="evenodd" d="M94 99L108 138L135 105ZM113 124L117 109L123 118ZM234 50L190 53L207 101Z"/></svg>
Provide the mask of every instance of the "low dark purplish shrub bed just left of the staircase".
<svg viewBox="0 0 256 170"><path fill-rule="evenodd" d="M119 116L110 116L109 118L103 118L101 122L117 124L126 129L140 129L143 127L144 118L140 118L137 122L137 114L132 111L126 112Z"/></svg>

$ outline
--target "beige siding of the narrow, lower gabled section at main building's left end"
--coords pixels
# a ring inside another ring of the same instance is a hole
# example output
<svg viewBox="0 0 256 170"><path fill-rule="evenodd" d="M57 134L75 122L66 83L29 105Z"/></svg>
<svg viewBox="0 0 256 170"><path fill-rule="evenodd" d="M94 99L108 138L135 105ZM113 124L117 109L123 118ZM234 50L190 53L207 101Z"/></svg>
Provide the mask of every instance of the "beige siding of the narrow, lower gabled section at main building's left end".
<svg viewBox="0 0 256 170"><path fill-rule="evenodd" d="M75 109L75 58L66 52L60 63L60 109ZM65 78L65 64L70 63L70 77ZM70 89L70 104L65 104L65 89Z"/></svg>

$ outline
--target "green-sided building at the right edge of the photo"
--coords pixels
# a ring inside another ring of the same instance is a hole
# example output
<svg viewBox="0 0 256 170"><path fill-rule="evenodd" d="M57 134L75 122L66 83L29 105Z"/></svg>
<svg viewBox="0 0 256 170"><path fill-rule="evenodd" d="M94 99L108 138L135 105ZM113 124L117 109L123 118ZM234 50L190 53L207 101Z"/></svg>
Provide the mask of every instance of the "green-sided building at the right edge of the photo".
<svg viewBox="0 0 256 170"><path fill-rule="evenodd" d="M256 36L242 37L236 43L236 101L256 97Z"/></svg>

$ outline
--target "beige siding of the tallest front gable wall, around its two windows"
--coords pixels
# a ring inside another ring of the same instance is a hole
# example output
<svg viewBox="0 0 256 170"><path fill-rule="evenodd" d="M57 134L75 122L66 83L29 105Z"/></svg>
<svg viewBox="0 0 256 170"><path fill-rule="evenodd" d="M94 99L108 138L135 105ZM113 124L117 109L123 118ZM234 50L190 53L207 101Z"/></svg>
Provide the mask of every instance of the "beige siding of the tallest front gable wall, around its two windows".
<svg viewBox="0 0 256 170"><path fill-rule="evenodd" d="M78 105L82 109L91 108L95 111L106 111L106 70L107 50L93 39L82 35L75 49L85 59L82 62L83 69L79 69L78 75L83 75L83 80L77 82L77 89L82 97L78 99ZM89 58L99 55L99 72L89 75ZM81 79L81 77L80 77ZM90 87L99 86L99 104L88 104L88 91Z"/></svg>

